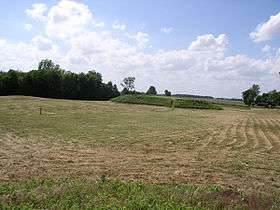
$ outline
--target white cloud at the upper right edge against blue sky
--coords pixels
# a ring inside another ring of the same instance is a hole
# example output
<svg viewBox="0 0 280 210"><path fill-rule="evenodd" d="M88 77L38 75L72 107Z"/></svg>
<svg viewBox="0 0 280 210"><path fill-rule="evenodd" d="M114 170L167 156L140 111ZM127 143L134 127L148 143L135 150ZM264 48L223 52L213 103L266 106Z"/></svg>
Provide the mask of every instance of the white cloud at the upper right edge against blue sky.
<svg viewBox="0 0 280 210"><path fill-rule="evenodd" d="M263 42L272 39L280 34L280 13L271 16L268 21L257 26L250 37L255 42Z"/></svg>

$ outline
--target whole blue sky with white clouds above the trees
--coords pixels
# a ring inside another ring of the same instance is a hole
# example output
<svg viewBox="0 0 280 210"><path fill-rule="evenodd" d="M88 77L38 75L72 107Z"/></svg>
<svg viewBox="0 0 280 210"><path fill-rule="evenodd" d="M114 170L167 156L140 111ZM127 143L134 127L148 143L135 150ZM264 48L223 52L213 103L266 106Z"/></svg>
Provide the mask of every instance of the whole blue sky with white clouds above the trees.
<svg viewBox="0 0 280 210"><path fill-rule="evenodd" d="M0 1L0 70L42 59L121 88L240 98L280 89L278 0Z"/></svg>

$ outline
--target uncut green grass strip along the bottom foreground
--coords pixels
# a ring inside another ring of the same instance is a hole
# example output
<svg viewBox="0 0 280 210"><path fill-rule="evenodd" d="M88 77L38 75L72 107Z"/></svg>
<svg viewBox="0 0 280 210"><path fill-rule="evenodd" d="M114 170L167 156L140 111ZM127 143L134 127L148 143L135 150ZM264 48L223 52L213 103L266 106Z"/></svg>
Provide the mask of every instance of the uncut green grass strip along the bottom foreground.
<svg viewBox="0 0 280 210"><path fill-rule="evenodd" d="M216 186L106 179L34 179L0 185L1 209L256 209L279 204L277 199L262 199Z"/></svg>

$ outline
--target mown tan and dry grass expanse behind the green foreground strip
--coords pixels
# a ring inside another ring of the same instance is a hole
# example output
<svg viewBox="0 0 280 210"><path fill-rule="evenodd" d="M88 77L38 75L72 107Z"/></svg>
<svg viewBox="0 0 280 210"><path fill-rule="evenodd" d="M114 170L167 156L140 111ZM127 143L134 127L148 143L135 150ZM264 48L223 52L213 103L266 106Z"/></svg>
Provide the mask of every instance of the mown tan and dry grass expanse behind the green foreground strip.
<svg viewBox="0 0 280 210"><path fill-rule="evenodd" d="M279 193L279 159L279 110L0 98L0 182L105 174Z"/></svg>

